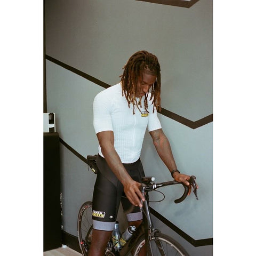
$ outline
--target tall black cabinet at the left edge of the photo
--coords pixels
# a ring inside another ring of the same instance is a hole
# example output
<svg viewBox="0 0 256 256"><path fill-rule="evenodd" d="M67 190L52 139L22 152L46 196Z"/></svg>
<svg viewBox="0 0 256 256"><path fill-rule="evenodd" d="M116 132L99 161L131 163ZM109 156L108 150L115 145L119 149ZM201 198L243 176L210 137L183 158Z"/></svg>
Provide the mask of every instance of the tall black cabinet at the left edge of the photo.
<svg viewBox="0 0 256 256"><path fill-rule="evenodd" d="M61 247L60 145L57 132L44 133L44 251Z"/></svg>

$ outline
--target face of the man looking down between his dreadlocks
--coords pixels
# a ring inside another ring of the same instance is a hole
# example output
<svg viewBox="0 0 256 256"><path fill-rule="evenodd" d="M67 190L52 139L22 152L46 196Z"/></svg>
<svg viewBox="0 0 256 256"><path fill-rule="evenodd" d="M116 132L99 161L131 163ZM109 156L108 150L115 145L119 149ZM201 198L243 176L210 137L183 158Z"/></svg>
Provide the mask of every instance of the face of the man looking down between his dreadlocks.
<svg viewBox="0 0 256 256"><path fill-rule="evenodd" d="M150 87L156 82L156 76L147 73L143 72L142 76L138 77L136 91L137 98L140 98L143 95L145 95L149 91Z"/></svg>

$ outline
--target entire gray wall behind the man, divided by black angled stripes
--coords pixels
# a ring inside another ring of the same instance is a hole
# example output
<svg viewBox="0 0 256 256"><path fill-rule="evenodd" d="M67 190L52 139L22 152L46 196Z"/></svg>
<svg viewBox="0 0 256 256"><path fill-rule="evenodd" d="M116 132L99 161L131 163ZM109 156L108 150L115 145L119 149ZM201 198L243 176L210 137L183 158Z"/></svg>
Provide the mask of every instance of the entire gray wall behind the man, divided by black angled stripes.
<svg viewBox="0 0 256 256"><path fill-rule="evenodd" d="M110 85L119 82L132 53L157 55L162 68L162 107L196 121L212 114L212 1L189 9L139 2L45 1L46 55ZM92 101L103 87L46 60L47 111L56 114L60 138L86 157L98 149L92 125ZM212 237L212 123L195 130L158 114L175 161L194 174L194 195L173 200L182 188L163 188L166 198L152 207L195 240ZM148 175L170 180L146 134L141 159ZM76 235L82 202L91 200L95 175L61 145L63 230ZM154 197L154 195L152 195ZM122 214L119 217L123 219ZM194 247L161 221L156 226L175 236L191 255L211 255L212 246Z"/></svg>

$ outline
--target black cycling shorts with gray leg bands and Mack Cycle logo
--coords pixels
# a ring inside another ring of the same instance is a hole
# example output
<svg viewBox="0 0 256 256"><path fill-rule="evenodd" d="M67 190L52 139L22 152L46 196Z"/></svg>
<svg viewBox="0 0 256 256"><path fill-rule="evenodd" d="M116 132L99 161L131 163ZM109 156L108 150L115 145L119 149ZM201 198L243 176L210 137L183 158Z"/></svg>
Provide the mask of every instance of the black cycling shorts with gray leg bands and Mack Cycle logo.
<svg viewBox="0 0 256 256"><path fill-rule="evenodd" d="M131 178L137 182L142 181L145 176L140 159L132 164L123 164ZM111 231L114 229L119 204L125 211L131 209L132 204L127 198L124 198L124 188L122 183L116 178L110 170L105 158L99 154L97 156L97 166L99 172L94 185L92 199L92 219L93 229ZM142 220L140 207L133 206L133 211L126 214L127 221Z"/></svg>

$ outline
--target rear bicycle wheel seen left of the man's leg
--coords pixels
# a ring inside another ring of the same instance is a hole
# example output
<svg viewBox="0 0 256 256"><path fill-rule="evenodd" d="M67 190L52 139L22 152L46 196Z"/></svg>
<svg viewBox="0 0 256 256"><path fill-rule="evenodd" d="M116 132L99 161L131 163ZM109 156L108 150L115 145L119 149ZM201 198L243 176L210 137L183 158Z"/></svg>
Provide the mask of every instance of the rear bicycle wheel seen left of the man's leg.
<svg viewBox="0 0 256 256"><path fill-rule="evenodd" d="M78 213L77 218L78 242L83 256L89 253L92 237L92 202L85 202Z"/></svg>

